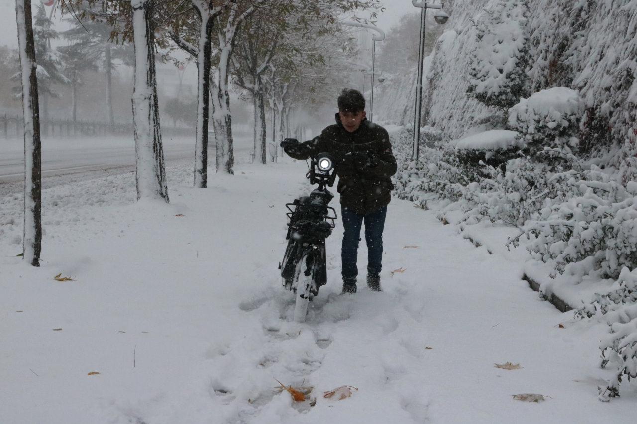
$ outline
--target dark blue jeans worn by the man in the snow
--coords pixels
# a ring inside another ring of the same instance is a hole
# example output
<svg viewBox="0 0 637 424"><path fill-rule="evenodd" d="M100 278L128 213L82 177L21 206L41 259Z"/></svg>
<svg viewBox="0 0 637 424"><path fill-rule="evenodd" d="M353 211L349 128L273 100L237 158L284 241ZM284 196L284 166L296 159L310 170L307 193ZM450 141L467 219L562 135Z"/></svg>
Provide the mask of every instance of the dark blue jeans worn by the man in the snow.
<svg viewBox="0 0 637 424"><path fill-rule="evenodd" d="M356 260L358 257L358 243L361 241L361 225L365 222L365 241L367 242L367 272L369 275L378 276L382 269L383 259L383 228L387 206L368 213L359 215L350 209L341 208L343 217L343 246L341 248L341 262L343 278L355 278L358 275Z"/></svg>

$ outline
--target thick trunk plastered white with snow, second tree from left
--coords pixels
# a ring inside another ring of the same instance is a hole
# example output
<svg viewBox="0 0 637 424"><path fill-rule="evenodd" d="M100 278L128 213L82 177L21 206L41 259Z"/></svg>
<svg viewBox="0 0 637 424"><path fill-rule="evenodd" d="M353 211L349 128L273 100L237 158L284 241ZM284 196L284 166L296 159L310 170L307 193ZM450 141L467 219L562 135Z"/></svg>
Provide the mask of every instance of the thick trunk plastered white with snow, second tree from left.
<svg viewBox="0 0 637 424"><path fill-rule="evenodd" d="M137 199L145 197L168 202L157 104L154 29L150 25L152 1L132 0L131 6L135 48L132 120L135 134Z"/></svg>

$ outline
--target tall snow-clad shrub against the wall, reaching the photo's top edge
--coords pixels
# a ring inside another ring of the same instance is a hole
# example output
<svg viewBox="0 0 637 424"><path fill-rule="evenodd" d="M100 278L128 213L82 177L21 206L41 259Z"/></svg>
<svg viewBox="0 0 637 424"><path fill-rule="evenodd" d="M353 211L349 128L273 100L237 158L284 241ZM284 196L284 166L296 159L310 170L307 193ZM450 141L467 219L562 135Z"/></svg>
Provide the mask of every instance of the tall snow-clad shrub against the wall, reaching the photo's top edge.
<svg viewBox="0 0 637 424"><path fill-rule="evenodd" d="M476 17L468 92L487 106L507 110L527 95L528 12L527 0L492 0Z"/></svg>

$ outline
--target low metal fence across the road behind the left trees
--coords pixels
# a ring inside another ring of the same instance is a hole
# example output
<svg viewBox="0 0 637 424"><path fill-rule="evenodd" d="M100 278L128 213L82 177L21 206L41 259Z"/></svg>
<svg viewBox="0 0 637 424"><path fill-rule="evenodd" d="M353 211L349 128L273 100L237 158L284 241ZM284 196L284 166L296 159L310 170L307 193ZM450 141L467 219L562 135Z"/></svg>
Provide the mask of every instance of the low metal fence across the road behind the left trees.
<svg viewBox="0 0 637 424"><path fill-rule="evenodd" d="M19 116L0 115L0 138L22 138L24 120ZM43 136L79 137L131 135L132 123L108 124L106 122L73 121L73 120L41 120L40 133ZM194 136L194 128L162 127L162 134L167 136Z"/></svg>

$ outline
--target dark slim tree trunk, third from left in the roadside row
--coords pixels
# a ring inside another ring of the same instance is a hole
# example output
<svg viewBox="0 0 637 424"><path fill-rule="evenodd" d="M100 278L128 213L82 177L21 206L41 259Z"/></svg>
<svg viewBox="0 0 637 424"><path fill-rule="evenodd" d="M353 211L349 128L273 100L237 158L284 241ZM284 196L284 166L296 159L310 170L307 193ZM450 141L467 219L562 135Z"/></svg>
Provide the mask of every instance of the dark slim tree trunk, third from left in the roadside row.
<svg viewBox="0 0 637 424"><path fill-rule="evenodd" d="M197 131L195 141L194 187L206 188L208 181L208 92L210 91L210 44L214 20L201 13L197 52Z"/></svg>

